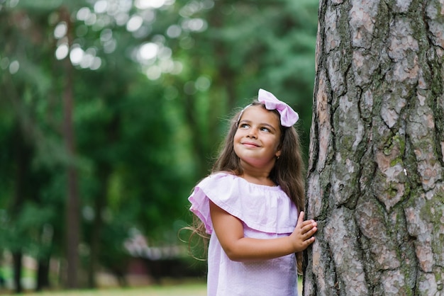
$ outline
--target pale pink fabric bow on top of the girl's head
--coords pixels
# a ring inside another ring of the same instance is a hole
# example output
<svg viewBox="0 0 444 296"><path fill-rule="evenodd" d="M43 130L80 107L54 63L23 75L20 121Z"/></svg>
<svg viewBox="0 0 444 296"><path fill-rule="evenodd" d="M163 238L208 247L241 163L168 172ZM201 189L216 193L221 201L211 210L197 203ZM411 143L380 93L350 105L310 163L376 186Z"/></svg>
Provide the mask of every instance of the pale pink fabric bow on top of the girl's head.
<svg viewBox="0 0 444 296"><path fill-rule="evenodd" d="M265 89L259 89L257 101L264 103L267 110L277 110L281 115L281 125L284 127L291 127L299 120L298 113L296 113L292 107L279 101L272 93L265 91Z"/></svg>

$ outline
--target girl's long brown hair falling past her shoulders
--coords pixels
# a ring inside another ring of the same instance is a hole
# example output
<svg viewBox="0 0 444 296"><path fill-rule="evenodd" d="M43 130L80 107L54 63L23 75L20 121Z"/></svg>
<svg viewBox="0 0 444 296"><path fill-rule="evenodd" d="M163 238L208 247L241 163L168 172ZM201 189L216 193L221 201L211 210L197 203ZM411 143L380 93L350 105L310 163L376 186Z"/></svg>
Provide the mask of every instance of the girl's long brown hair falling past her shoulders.
<svg viewBox="0 0 444 296"><path fill-rule="evenodd" d="M253 101L249 106L263 106L265 110L265 105L259 103L258 101ZM248 108L248 107L245 107ZM245 108L243 110L245 110ZM243 113L240 110L236 113L233 118L231 118L231 125L226 139L221 147L221 152L218 154L218 158L213 164L211 173L216 173L218 171L228 171L237 176L243 173L242 166L240 166L240 159L234 152L234 135L238 130L238 120ZM270 110L270 112L276 113L280 117L277 110ZM299 141L299 135L294 127L284 127L280 125L281 129L281 139L279 144L279 149L281 154L279 158L274 163L274 167L270 172L270 180L279 185L284 193L287 193L289 198L292 200L294 205L296 205L298 214L304 209L305 200L305 182L303 178L304 173L304 161L301 154L301 144ZM199 237L208 237L205 234L205 229L202 222L199 219L194 220L193 234L199 235ZM190 228L189 228L190 229ZM302 271L302 253L296 254L298 263L298 272Z"/></svg>

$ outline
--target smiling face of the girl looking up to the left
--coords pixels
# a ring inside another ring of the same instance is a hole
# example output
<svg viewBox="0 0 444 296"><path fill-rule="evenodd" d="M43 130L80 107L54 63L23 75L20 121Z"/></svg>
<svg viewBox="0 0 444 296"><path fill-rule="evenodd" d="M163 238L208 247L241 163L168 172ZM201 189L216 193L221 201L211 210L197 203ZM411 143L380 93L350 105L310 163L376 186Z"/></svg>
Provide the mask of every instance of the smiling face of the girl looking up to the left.
<svg viewBox="0 0 444 296"><path fill-rule="evenodd" d="M234 135L234 152L243 165L271 170L281 154L280 137L277 114L262 106L249 106L243 110Z"/></svg>

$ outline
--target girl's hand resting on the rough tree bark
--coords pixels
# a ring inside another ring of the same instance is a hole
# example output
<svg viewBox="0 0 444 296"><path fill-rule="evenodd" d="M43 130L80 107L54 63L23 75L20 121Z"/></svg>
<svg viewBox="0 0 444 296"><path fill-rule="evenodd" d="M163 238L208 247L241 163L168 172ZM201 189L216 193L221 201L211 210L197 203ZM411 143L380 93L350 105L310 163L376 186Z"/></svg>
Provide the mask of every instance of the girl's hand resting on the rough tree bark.
<svg viewBox="0 0 444 296"><path fill-rule="evenodd" d="M295 253L304 251L309 245L313 244L313 234L318 230L318 224L314 220L304 221L304 215L304 212L299 213L296 227L289 236Z"/></svg>

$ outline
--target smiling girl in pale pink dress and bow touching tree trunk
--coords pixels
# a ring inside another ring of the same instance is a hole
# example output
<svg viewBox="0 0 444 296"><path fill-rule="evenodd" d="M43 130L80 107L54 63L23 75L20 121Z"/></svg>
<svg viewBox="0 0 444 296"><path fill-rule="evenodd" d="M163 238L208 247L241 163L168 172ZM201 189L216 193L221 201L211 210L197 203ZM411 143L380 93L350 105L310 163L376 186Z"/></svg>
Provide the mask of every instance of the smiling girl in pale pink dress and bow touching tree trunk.
<svg viewBox="0 0 444 296"><path fill-rule="evenodd" d="M211 235L209 296L297 295L295 253L313 243L317 230L301 212L298 119L260 89L258 101L233 118L211 175L189 196L200 223L195 231Z"/></svg>

